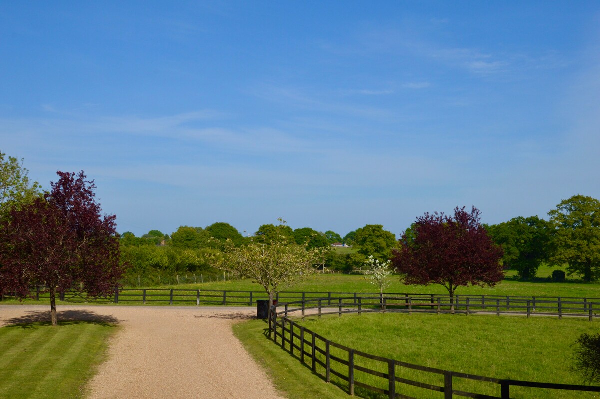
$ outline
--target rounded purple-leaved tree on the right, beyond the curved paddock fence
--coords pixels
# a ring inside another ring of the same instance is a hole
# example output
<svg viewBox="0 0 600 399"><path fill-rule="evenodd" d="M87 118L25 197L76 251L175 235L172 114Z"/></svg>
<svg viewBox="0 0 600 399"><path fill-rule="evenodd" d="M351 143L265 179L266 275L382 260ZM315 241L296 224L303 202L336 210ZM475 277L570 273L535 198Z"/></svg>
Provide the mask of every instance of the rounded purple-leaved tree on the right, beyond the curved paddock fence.
<svg viewBox="0 0 600 399"><path fill-rule="evenodd" d="M473 207L454 209L454 217L425 214L404 233L401 248L394 250L392 265L406 284L440 284L450 294L454 313L454 292L458 287L493 287L504 277L502 247L495 245L479 223L479 211Z"/></svg>

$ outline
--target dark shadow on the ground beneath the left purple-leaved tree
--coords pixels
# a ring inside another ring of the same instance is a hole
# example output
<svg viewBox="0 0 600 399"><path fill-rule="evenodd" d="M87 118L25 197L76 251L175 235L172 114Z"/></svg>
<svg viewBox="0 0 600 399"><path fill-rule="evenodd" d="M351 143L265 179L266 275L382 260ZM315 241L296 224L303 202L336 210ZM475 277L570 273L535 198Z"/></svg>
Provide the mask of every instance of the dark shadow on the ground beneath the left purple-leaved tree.
<svg viewBox="0 0 600 399"><path fill-rule="evenodd" d="M58 312L58 325L73 325L83 322L94 322L98 325L112 326L119 324L115 316L98 314L89 310L65 310ZM30 325L50 325L50 311L29 311L25 316L4 320L6 327L32 328Z"/></svg>

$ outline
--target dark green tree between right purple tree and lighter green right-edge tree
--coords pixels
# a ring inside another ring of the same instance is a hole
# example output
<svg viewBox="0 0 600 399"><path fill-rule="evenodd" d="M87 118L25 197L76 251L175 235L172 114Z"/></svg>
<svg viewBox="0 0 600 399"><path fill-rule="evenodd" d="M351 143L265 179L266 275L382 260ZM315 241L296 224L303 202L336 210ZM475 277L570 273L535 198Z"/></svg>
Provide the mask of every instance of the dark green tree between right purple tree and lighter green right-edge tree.
<svg viewBox="0 0 600 399"><path fill-rule="evenodd" d="M488 226L487 230L504 249L504 266L516 270L521 280L534 278L542 262L550 257L552 224L537 216L517 217Z"/></svg>

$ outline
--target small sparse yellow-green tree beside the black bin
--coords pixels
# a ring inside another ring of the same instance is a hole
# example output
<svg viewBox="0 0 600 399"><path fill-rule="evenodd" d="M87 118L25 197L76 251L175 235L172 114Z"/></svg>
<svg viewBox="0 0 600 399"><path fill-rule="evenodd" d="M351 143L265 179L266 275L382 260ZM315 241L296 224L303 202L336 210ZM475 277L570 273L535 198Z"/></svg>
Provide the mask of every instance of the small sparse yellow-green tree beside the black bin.
<svg viewBox="0 0 600 399"><path fill-rule="evenodd" d="M284 220L279 221L280 225L271 232L271 240L250 242L242 247L235 247L228 240L220 256L207 257L214 268L251 278L260 284L269 295L269 309L278 292L313 274L314 266L323 257L322 249L309 249L308 242L305 245L290 242L286 234L289 227Z"/></svg>

